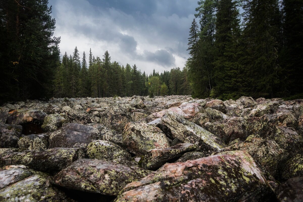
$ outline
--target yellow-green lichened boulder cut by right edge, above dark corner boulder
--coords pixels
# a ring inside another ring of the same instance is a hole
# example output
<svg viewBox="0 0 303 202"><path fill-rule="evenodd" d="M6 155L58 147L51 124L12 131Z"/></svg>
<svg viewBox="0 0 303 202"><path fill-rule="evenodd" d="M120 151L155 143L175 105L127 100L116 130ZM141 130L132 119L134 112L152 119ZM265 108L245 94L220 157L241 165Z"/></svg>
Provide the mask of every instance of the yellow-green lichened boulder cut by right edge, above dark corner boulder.
<svg viewBox="0 0 303 202"><path fill-rule="evenodd" d="M282 179L287 180L294 177L303 177L303 154L296 155L284 165Z"/></svg>

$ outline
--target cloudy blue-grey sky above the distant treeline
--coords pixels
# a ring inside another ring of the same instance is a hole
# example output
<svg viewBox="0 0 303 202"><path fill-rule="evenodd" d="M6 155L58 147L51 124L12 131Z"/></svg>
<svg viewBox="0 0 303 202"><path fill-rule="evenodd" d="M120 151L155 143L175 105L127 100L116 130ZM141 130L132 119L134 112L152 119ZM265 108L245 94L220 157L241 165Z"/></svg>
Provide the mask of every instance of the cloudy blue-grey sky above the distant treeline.
<svg viewBox="0 0 303 202"><path fill-rule="evenodd" d="M147 73L184 67L197 0L49 0L61 54L75 46Z"/></svg>

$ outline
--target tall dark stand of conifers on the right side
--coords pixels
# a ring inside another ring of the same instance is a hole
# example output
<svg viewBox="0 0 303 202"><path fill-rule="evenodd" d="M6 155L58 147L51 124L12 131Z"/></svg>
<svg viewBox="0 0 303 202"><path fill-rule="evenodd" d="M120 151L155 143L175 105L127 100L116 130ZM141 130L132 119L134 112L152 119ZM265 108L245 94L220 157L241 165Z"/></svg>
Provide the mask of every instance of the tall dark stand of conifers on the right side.
<svg viewBox="0 0 303 202"><path fill-rule="evenodd" d="M199 0L195 18L187 61L193 96L303 92L302 0Z"/></svg>

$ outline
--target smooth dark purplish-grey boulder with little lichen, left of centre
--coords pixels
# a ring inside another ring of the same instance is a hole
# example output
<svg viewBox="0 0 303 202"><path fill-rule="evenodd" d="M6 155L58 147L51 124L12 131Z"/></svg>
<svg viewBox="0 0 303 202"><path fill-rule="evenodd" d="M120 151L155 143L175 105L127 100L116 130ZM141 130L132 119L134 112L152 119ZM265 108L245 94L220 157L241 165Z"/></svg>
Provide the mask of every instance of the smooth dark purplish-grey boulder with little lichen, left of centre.
<svg viewBox="0 0 303 202"><path fill-rule="evenodd" d="M90 142L100 138L101 132L92 125L68 123L50 134L49 148L85 148Z"/></svg>

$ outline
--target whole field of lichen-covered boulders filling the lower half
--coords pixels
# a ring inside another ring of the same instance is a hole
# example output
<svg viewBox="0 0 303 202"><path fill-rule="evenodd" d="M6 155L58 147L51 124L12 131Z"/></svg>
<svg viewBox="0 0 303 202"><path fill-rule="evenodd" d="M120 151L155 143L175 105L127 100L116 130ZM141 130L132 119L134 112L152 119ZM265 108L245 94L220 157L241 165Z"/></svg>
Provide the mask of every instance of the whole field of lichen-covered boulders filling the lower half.
<svg viewBox="0 0 303 202"><path fill-rule="evenodd" d="M49 99L0 108L0 201L303 201L303 100Z"/></svg>

